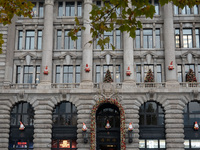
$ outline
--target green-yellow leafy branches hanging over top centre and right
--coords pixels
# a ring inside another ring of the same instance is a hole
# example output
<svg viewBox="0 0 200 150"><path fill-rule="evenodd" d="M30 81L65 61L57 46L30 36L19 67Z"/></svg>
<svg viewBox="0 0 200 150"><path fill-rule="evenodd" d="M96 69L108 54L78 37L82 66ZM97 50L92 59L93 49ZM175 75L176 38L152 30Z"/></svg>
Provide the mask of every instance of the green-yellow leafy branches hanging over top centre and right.
<svg viewBox="0 0 200 150"><path fill-rule="evenodd" d="M90 12L90 20L88 23L91 26L90 33L93 39L98 39L97 45L104 50L104 45L110 42L109 37L103 38L104 32L113 31L116 26L121 32L128 32L130 37L135 38L135 30L142 28L142 24L138 17L145 16L153 18L155 7L149 3L149 0L103 0L104 6L98 7L92 5ZM185 5L192 7L200 4L200 0L159 0L161 6L173 2L180 8ZM76 31L81 29L79 20L76 18L76 28L69 32L69 36L76 40ZM88 41L92 43L93 41ZM113 49L115 47L111 45Z"/></svg>

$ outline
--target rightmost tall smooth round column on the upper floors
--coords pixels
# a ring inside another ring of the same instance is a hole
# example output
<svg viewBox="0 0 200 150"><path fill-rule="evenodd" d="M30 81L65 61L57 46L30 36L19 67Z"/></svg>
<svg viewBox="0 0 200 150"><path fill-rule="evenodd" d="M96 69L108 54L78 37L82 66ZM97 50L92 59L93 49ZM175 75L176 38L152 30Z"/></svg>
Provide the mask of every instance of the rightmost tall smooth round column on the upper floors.
<svg viewBox="0 0 200 150"><path fill-rule="evenodd" d="M176 75L176 55L174 43L174 27L173 27L173 8L172 3L164 6L164 48L165 48L165 74L166 82L178 84ZM168 70L170 62L173 61L173 70Z"/></svg>

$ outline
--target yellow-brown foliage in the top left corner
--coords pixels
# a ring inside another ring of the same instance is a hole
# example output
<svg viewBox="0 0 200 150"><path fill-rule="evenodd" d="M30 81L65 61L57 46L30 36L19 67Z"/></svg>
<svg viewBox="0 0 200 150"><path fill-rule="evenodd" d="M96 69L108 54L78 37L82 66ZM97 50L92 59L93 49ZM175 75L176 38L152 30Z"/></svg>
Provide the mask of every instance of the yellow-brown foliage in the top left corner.
<svg viewBox="0 0 200 150"><path fill-rule="evenodd" d="M14 15L32 18L33 4L27 0L0 0L0 24L11 24ZM0 53L2 53L3 35L0 34Z"/></svg>

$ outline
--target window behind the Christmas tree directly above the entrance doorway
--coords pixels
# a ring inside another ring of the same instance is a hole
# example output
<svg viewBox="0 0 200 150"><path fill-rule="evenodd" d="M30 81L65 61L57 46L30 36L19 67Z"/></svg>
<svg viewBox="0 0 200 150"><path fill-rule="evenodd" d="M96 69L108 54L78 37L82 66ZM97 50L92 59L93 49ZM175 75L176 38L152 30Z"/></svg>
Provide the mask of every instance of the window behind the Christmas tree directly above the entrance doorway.
<svg viewBox="0 0 200 150"><path fill-rule="evenodd" d="M101 71L103 70L103 72ZM121 82L121 67L120 65L116 65L115 67L112 65L103 65L103 68L101 68L100 65L96 66L96 75L95 75L95 82L100 83L103 82L103 79L106 75L107 70L109 69L111 73L111 78L114 82Z"/></svg>

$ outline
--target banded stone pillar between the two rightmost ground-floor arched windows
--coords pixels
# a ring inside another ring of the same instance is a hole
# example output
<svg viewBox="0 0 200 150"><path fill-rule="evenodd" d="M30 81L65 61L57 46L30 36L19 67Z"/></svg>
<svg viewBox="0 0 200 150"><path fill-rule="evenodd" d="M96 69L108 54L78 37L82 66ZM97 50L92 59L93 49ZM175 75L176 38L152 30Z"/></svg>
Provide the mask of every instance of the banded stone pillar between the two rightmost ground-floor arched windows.
<svg viewBox="0 0 200 150"><path fill-rule="evenodd" d="M179 100L170 100L165 106L165 128L167 150L184 150L183 106Z"/></svg>

